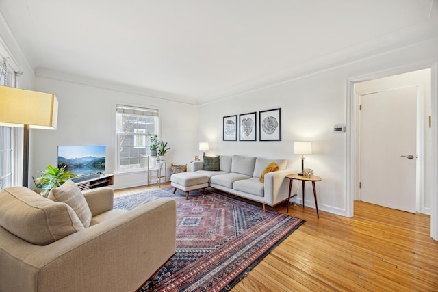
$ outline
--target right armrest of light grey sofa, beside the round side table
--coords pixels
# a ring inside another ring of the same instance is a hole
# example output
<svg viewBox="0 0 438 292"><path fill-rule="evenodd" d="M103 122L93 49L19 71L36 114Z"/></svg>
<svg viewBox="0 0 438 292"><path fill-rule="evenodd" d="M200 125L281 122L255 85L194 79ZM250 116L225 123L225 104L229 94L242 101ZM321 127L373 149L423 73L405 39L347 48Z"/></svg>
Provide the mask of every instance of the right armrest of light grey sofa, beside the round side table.
<svg viewBox="0 0 438 292"><path fill-rule="evenodd" d="M265 202L270 205L287 200L289 184L285 176L294 173L292 169L265 174Z"/></svg>

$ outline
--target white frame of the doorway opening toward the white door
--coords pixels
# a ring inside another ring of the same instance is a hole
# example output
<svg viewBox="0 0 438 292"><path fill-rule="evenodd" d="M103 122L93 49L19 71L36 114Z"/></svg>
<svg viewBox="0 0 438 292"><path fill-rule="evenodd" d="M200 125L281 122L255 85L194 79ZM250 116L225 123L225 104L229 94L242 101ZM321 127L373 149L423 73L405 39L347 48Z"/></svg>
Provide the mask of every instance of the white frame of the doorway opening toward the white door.
<svg viewBox="0 0 438 292"><path fill-rule="evenodd" d="M361 81L379 79L398 75L405 72L415 70L431 69L431 127L438 129L438 63L435 62L420 62L417 64L409 64L400 68L391 70L372 72L368 75L361 75L346 79L346 174L345 174L345 215L353 217L354 215L354 200L359 196L359 101L354 92L354 84ZM436 117L436 118L435 118ZM432 172L433 177L438 176L438 131L432 131ZM433 180L431 183L432 194L430 204L430 236L434 240L438 240L438 181Z"/></svg>

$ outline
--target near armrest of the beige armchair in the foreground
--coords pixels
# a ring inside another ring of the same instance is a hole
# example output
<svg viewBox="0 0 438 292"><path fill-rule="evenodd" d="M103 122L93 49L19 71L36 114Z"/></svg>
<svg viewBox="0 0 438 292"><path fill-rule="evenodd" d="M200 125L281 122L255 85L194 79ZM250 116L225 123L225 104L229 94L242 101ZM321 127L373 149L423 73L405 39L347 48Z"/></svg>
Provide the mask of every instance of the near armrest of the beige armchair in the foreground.
<svg viewBox="0 0 438 292"><path fill-rule="evenodd" d="M175 200L159 198L46 246L16 238L8 258L18 274L8 284L16 291L135 291L175 254L176 213Z"/></svg>

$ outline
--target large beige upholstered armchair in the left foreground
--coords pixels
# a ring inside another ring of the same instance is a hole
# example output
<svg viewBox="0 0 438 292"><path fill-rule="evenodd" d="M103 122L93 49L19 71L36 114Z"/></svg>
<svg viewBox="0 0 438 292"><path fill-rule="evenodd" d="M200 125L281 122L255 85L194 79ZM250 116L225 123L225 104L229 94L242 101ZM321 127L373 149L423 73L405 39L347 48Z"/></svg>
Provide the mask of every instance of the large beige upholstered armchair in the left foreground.
<svg viewBox="0 0 438 292"><path fill-rule="evenodd" d="M108 187L82 197L88 227L65 202L0 192L0 291L135 291L175 254L175 200L125 211Z"/></svg>

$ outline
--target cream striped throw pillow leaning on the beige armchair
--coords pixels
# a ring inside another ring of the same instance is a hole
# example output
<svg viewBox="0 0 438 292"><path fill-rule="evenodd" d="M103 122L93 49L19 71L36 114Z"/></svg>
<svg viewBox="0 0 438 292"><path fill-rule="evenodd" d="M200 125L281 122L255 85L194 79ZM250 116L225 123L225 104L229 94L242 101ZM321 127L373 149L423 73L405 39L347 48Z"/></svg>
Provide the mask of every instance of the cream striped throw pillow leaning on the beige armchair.
<svg viewBox="0 0 438 292"><path fill-rule="evenodd" d="M49 199L55 202L64 202L72 207L83 227L88 228L91 223L91 211L83 197L81 189L70 179L60 187L51 189Z"/></svg>

